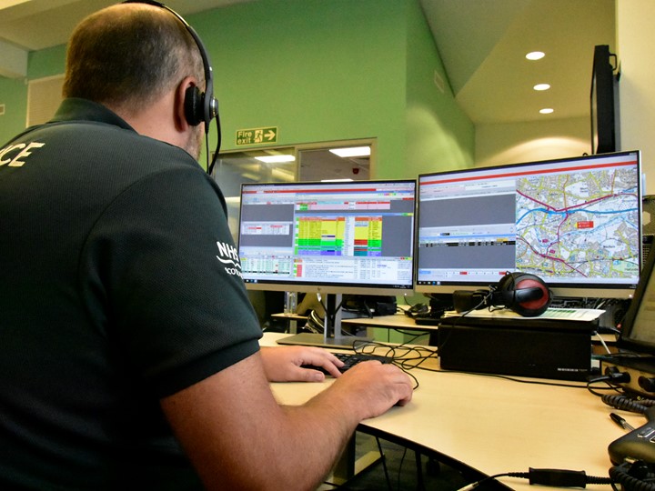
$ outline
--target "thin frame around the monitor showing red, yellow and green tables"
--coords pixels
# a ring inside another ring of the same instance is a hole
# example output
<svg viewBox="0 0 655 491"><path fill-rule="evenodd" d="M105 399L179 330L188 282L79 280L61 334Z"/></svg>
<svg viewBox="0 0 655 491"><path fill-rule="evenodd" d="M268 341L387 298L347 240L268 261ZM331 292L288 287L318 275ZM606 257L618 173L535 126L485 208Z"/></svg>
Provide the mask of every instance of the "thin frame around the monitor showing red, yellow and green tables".
<svg viewBox="0 0 655 491"><path fill-rule="evenodd" d="M418 193L418 183L416 179L367 179L367 180L357 180L357 181L297 181L293 183L243 183L241 185L241 204L243 206L243 192L244 189L249 186L261 186L261 185L270 185L274 187L282 186L297 186L297 185L380 185L380 184L411 184L414 187L414 205L413 205L413 220L412 220L412 232L411 232L411 279L408 284L401 285L380 285L375 283L369 284L348 284L345 282L328 282L328 281L282 281L281 279L277 280L257 280L252 281L247 278L243 278L244 284L248 290L264 290L264 291L277 291L277 292L298 292L298 293L317 293L319 295L370 295L370 296L412 296L414 295L414 286L416 284L416 216L417 216L417 193ZM241 238L241 214L239 214L239 223L238 223L238 234L237 234L237 251L239 257L241 256L240 252L240 238Z"/></svg>

